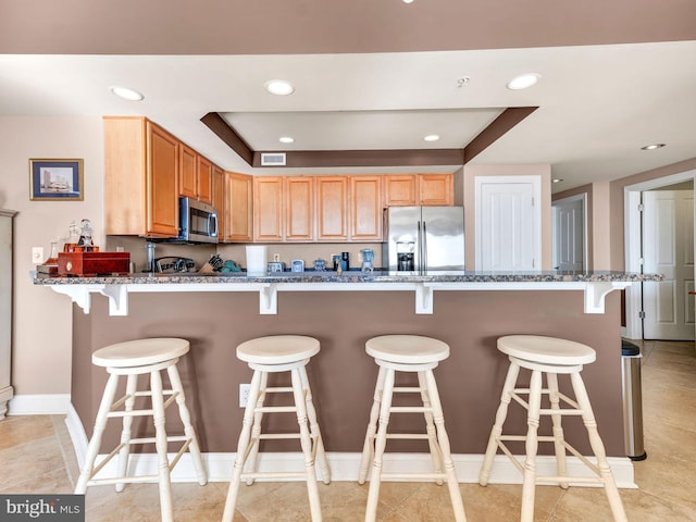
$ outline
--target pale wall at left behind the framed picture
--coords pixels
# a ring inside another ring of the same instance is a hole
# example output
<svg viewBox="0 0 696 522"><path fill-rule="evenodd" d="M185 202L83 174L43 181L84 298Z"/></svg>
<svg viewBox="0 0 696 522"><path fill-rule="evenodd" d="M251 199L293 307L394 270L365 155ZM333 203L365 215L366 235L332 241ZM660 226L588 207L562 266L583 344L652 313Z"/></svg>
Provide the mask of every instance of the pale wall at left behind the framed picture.
<svg viewBox="0 0 696 522"><path fill-rule="evenodd" d="M30 201L29 159L82 158L84 201ZM71 221L89 217L103 245L103 125L101 117L0 117L0 208L14 220L12 383L15 395L70 393L72 304L66 296L35 287L32 247L50 252ZM4 268L3 268L4 270ZM82 313L82 312L79 312Z"/></svg>

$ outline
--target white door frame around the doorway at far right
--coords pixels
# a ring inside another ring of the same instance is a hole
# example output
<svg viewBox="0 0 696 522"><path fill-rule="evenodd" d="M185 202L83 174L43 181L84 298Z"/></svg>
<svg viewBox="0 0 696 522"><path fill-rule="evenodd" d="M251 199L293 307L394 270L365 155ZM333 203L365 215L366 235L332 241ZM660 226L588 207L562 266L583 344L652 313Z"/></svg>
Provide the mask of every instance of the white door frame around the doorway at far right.
<svg viewBox="0 0 696 522"><path fill-rule="evenodd" d="M671 176L659 177L623 187L624 265L626 272L639 273L643 271L643 238L641 233L642 223L639 211L641 192L688 181L694 182L694 189L696 190L696 170L681 172L679 174L672 174ZM696 212L694 213L694 224L696 225ZM696 227L694 229L696 231ZM694 248L696 249L696 247ZM696 268L694 269L694 276L696 278ZM642 339L643 322L639 318L639 312L643 310L642 285L633 284L629 286L626 288L625 296L626 327L623 335L630 339Z"/></svg>

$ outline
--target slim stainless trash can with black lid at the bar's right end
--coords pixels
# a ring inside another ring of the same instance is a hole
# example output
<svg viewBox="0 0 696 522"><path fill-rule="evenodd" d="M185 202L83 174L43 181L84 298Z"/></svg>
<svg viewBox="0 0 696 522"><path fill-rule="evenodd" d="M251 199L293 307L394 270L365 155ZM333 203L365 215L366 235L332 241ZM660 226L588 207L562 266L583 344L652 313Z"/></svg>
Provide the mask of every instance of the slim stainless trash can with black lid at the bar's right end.
<svg viewBox="0 0 696 522"><path fill-rule="evenodd" d="M623 391L623 440L631 460L645 460L643 440L643 383L641 378L641 348L621 341L621 384Z"/></svg>

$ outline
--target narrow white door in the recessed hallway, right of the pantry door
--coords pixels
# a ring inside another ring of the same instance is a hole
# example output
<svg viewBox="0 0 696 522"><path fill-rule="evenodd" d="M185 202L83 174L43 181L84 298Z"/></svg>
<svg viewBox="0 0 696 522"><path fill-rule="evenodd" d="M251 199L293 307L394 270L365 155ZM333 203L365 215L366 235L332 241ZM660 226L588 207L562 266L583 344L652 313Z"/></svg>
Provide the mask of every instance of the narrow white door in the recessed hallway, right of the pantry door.
<svg viewBox="0 0 696 522"><path fill-rule="evenodd" d="M585 270L585 197L563 198L552 202L554 269Z"/></svg>

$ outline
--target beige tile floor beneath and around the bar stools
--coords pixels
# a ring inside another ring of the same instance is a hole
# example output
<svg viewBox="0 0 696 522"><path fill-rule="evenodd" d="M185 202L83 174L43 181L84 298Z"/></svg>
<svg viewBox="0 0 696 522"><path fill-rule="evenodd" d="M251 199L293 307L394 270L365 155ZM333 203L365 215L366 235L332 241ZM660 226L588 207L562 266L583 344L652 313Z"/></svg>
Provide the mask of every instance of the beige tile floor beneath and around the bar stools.
<svg viewBox="0 0 696 522"><path fill-rule="evenodd" d="M696 357L694 343L644 341L645 446L648 459L635 463L639 489L622 489L629 520L696 521ZM600 431L601 431L601 426ZM72 493L77 464L62 415L9 417L0 421L0 493ZM364 519L368 485L320 483L325 522ZM219 521L226 483L174 484L177 521ZM519 485L460 486L469 522L519 520ZM611 514L599 488L538 487L535 521L597 522ZM385 483L381 522L453 520L446 487ZM156 485L91 487L88 522L159 520ZM234 522L309 521L303 483L243 486Z"/></svg>

